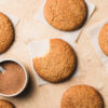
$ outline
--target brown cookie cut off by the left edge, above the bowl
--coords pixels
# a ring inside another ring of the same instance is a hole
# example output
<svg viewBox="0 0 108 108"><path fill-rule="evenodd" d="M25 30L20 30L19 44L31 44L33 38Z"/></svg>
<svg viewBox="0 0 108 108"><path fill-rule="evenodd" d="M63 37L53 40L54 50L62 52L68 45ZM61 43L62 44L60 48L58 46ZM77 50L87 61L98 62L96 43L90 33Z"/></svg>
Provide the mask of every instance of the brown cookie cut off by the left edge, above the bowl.
<svg viewBox="0 0 108 108"><path fill-rule="evenodd" d="M0 54L5 52L14 39L14 28L3 13L0 13Z"/></svg>

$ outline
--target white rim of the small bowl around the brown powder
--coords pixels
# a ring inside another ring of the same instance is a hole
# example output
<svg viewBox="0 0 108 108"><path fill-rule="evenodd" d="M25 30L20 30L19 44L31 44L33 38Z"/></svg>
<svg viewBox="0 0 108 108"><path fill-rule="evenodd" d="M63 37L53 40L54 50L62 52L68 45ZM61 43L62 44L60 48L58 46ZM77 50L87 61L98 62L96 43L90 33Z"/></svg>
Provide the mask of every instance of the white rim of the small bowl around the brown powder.
<svg viewBox="0 0 108 108"><path fill-rule="evenodd" d="M24 72L25 72L25 76L26 76L26 81L25 81L24 86L23 86L17 93L12 94L12 95L5 95L5 94L0 93L1 96L5 96L5 97L17 96L17 95L19 95L19 94L25 90L25 87L27 86L27 83L28 83L28 73L27 73L27 71L26 71L26 69L25 69L25 67L24 67L24 65L21 64L21 63L17 62L17 60L15 60L15 59L8 58L8 59L2 59L2 60L0 60L0 63L3 63L3 62L14 62L14 63L18 64L18 65L24 69Z"/></svg>

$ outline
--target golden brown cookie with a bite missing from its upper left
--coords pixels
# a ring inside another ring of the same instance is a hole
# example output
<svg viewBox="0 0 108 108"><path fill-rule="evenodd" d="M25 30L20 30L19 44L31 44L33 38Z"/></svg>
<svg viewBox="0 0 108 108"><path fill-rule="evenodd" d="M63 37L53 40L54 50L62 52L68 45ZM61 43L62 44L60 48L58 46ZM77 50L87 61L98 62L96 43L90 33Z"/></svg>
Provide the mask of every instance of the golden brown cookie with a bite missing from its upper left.
<svg viewBox="0 0 108 108"><path fill-rule="evenodd" d="M33 58L37 73L53 83L68 79L73 73L76 66L77 57L72 48L60 39L51 39L48 54Z"/></svg>

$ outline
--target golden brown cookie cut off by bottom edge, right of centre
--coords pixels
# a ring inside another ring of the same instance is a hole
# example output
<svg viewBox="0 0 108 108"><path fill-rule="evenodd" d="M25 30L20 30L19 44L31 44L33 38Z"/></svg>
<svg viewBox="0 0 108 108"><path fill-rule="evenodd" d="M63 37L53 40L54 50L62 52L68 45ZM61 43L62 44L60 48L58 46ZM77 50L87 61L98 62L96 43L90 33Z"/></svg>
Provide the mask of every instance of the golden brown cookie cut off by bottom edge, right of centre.
<svg viewBox="0 0 108 108"><path fill-rule="evenodd" d="M104 108L104 102L94 87L76 85L64 93L60 108Z"/></svg>

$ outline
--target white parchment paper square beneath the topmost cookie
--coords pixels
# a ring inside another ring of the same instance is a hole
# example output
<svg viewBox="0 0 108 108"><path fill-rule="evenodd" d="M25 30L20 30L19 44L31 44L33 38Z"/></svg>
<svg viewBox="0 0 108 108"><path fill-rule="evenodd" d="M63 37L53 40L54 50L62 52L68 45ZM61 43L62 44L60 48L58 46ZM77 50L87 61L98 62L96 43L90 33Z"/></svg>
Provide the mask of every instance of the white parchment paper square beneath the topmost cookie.
<svg viewBox="0 0 108 108"><path fill-rule="evenodd" d="M40 8L39 12L37 13L36 15L36 19L50 26L49 23L45 21L44 16L43 16L43 9L44 9L44 4L45 4L45 1L43 2L42 6ZM90 3L87 0L85 0L86 4L87 4L87 10L89 10L89 14L87 14L87 19L91 17L92 13L94 12L95 10L95 5L93 3ZM52 26L50 26L52 27ZM52 27L53 28L53 27ZM83 28L83 27L82 27ZM60 32L62 35L64 36L70 36L70 37L73 37L73 41L77 41L77 39L79 38L79 35L81 33L82 31L82 28L78 29L78 30L75 30L75 31L60 31L60 30L57 30L55 28L56 31Z"/></svg>

